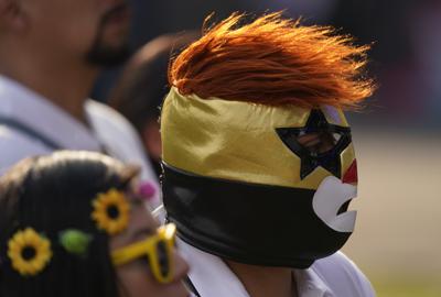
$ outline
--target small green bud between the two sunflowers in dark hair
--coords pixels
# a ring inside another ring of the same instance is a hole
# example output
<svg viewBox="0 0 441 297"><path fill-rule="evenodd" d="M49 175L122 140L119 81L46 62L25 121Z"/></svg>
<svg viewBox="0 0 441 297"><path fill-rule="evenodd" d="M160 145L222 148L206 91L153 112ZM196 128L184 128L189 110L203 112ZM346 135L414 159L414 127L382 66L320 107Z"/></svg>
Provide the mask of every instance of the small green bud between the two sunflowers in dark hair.
<svg viewBox="0 0 441 297"><path fill-rule="evenodd" d="M86 256L94 237L77 229L67 229L58 234L58 243L74 255Z"/></svg>

